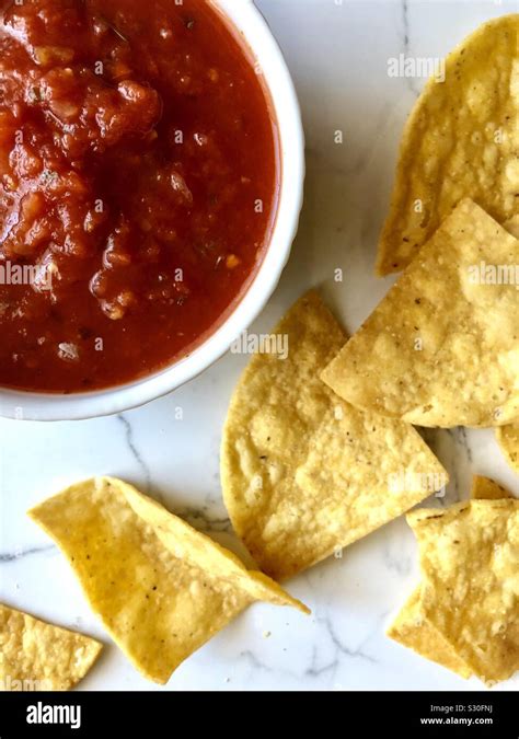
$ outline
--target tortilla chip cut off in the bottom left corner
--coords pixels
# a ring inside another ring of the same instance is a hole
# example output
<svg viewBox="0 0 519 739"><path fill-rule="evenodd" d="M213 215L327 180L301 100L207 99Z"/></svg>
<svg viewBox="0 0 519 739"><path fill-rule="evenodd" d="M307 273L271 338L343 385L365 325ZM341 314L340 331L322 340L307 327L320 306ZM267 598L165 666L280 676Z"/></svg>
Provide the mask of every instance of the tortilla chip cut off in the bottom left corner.
<svg viewBox="0 0 519 739"><path fill-rule="evenodd" d="M84 678L103 646L89 636L0 603L0 690L66 691Z"/></svg>

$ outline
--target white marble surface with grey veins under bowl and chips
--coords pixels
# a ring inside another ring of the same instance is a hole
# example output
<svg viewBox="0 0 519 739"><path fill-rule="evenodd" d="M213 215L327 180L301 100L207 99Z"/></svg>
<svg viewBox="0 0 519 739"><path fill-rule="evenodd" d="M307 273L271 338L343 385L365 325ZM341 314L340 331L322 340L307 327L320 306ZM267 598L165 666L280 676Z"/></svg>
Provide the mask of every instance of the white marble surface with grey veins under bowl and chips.
<svg viewBox="0 0 519 739"><path fill-rule="evenodd" d="M300 95L308 182L292 257L267 310L267 330L308 287L319 286L349 331L388 289L372 276L397 141L422 80L390 79L388 57L441 56L477 24L517 2L257 0ZM334 131L344 143L334 143ZM345 281L333 282L342 267ZM245 363L228 355L169 397L118 417L38 425L0 422L0 600L102 638L106 650L83 690L152 690L91 614L69 567L26 509L64 484L122 476L232 544L218 450L226 407ZM175 420L175 408L183 420ZM491 431L438 431L429 440L449 469L448 499L465 497L473 472L519 494ZM396 520L289 582L305 617L256 604L188 659L163 690L480 689L384 636L417 578L416 547ZM269 633L270 636L265 635ZM495 690L517 690L519 677ZM161 689L159 689L161 690Z"/></svg>

